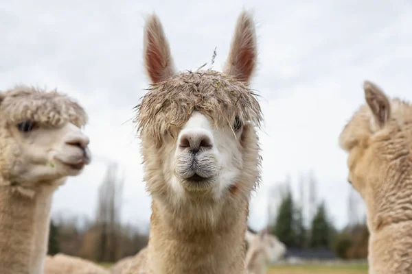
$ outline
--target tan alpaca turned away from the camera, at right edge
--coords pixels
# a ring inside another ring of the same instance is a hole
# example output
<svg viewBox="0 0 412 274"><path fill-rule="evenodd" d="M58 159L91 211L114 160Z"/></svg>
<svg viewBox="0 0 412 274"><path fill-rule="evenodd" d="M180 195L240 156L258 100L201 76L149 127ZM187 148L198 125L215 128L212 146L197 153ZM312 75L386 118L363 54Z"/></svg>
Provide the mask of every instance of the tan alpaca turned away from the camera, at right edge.
<svg viewBox="0 0 412 274"><path fill-rule="evenodd" d="M348 181L367 206L369 273L412 273L412 105L364 83L366 104L339 136Z"/></svg>

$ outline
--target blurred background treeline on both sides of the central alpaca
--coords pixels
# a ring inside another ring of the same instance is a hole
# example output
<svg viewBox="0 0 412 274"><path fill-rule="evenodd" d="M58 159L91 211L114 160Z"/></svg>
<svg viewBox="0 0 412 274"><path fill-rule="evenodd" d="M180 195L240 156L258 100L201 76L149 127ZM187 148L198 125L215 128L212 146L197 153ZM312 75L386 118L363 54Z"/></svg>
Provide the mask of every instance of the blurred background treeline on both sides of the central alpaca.
<svg viewBox="0 0 412 274"><path fill-rule="evenodd" d="M117 164L109 164L98 190L94 219L61 213L54 216L50 223L48 253L65 253L95 262L116 262L145 247L148 232L120 222L123 183L117 174ZM306 182L301 178L299 197L294 197L290 190L290 177L284 184L275 185L276 189L268 197L271 234L288 249L329 249L343 259L367 258L369 233L365 222L351 223L338 231L328 216L326 204L316 199L316 184L312 174ZM304 197L304 186L309 188L308 199ZM356 210L351 208L356 206L352 205L349 212L355 215Z"/></svg>

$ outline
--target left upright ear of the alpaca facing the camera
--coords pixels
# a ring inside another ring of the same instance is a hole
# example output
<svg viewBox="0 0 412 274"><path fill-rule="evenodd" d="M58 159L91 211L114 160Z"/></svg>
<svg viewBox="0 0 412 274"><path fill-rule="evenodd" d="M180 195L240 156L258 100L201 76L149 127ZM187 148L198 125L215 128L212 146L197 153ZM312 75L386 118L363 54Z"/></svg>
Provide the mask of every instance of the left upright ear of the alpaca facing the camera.
<svg viewBox="0 0 412 274"><path fill-rule="evenodd" d="M156 14L152 14L144 26L143 55L146 74L153 84L174 74L169 42Z"/></svg>

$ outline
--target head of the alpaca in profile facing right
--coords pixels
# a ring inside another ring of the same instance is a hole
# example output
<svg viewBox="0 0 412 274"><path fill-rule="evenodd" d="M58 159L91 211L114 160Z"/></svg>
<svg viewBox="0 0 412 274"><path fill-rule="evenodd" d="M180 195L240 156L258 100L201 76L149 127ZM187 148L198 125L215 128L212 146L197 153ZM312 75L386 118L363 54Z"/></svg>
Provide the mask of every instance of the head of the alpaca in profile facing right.
<svg viewBox="0 0 412 274"><path fill-rule="evenodd" d="M78 175L89 164L84 110L58 92L17 86L0 93L0 179L20 190Z"/></svg>

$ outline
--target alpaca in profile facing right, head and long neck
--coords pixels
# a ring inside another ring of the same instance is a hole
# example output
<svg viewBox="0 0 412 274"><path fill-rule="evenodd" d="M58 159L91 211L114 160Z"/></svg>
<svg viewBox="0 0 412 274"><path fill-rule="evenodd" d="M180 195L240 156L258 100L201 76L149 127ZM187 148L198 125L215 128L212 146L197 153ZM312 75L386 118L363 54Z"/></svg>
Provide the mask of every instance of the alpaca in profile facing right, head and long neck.
<svg viewBox="0 0 412 274"><path fill-rule="evenodd" d="M91 161L87 114L54 90L0 92L0 273L40 274L52 195Z"/></svg>

